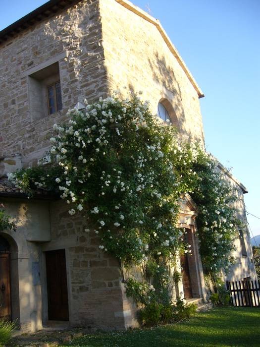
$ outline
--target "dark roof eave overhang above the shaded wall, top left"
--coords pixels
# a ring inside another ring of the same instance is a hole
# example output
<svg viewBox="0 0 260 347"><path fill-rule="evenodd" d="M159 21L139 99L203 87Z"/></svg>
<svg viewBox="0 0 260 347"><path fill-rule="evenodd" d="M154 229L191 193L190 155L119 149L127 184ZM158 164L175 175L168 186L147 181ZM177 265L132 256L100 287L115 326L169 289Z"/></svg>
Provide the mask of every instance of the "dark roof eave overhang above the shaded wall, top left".
<svg viewBox="0 0 260 347"><path fill-rule="evenodd" d="M26 16L0 31L0 44L9 40L21 31L37 24L38 22L53 16L53 14L68 8L81 0L50 0Z"/></svg>

